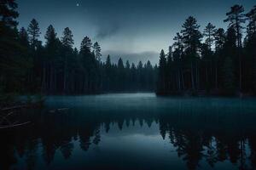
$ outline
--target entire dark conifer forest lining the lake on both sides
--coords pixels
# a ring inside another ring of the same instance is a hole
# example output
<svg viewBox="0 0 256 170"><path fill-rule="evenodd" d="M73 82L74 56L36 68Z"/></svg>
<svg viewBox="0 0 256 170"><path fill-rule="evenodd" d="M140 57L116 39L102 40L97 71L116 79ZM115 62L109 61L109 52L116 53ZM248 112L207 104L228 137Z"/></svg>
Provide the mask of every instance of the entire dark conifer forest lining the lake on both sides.
<svg viewBox="0 0 256 170"><path fill-rule="evenodd" d="M74 48L68 27L57 37L50 25L43 43L37 20L18 29L17 3L0 5L0 94L256 94L256 6L247 13L231 7L227 31L209 23L201 32L189 16L159 65L151 65L115 64L109 55L102 61L99 42L84 37Z"/></svg>

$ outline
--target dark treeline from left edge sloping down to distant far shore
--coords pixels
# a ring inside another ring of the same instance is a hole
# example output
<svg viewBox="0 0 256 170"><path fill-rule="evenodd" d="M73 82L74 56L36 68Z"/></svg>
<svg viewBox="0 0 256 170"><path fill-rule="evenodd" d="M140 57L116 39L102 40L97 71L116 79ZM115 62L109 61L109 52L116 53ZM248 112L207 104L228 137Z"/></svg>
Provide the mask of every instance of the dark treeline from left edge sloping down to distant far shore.
<svg viewBox="0 0 256 170"><path fill-rule="evenodd" d="M73 33L67 27L58 38L53 26L39 41L38 21L33 19L18 31L17 3L0 3L0 93L97 94L119 91L154 91L157 66L102 62L101 47L84 37L73 48Z"/></svg>

